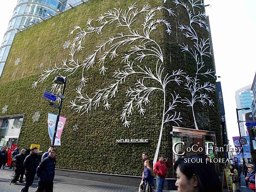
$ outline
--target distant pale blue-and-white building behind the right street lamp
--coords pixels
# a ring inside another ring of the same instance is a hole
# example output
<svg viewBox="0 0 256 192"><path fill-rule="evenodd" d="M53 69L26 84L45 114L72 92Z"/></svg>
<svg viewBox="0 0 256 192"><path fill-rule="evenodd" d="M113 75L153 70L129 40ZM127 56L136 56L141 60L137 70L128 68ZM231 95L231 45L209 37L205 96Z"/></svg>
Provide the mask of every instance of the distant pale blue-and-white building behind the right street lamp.
<svg viewBox="0 0 256 192"><path fill-rule="evenodd" d="M253 91L251 90L252 85L247 85L236 91L236 107L239 108L250 108L249 110L238 111L239 120L245 121L245 114L252 111L251 106L253 103ZM240 123L241 136L249 136L245 122Z"/></svg>

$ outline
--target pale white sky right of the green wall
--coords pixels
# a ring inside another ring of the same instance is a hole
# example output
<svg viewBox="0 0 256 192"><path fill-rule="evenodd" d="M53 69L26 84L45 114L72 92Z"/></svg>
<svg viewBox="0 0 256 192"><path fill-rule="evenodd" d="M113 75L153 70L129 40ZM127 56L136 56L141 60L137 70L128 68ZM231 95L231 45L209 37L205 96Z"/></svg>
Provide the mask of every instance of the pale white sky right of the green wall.
<svg viewBox="0 0 256 192"><path fill-rule="evenodd" d="M256 72L255 0L205 0L209 15L216 73L221 76L230 141L239 136L235 91L253 83Z"/></svg>

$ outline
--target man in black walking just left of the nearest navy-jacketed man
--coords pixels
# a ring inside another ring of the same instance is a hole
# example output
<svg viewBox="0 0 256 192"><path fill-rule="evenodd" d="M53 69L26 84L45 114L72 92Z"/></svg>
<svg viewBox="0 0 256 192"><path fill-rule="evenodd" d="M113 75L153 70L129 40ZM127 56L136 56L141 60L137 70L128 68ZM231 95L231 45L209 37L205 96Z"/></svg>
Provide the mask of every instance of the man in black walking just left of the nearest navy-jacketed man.
<svg viewBox="0 0 256 192"><path fill-rule="evenodd" d="M24 167L25 167L25 176L26 176L26 183L25 183L25 187L23 189L21 189L21 192L28 192L29 191L29 187L32 185L34 178L35 178L35 173L36 173L36 168L39 165L39 157L37 154L38 148L37 147L33 147L31 148L31 153L26 156L25 160L24 160Z"/></svg>

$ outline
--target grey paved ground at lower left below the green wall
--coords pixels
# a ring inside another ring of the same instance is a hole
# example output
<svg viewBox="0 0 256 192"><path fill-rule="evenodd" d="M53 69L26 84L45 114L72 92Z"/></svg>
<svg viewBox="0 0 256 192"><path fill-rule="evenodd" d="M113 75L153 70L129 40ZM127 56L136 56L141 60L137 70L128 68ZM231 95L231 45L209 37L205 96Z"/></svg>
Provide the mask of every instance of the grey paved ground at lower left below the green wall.
<svg viewBox="0 0 256 192"><path fill-rule="evenodd" d="M0 192L19 192L23 184L9 185L13 171L11 169L0 169ZM125 181L124 181L125 182ZM18 182L17 182L18 183ZM54 192L138 192L138 187L102 183L98 181L76 179L56 175L54 178ZM29 187L29 192L35 192L38 180ZM177 191L164 191L177 192Z"/></svg>

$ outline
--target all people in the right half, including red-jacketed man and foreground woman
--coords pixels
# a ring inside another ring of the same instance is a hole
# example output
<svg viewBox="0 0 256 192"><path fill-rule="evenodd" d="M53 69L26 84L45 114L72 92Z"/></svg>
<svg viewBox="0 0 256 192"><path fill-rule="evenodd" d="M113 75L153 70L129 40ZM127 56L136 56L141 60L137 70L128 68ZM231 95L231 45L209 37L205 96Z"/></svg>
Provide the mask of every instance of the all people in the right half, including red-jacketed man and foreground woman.
<svg viewBox="0 0 256 192"><path fill-rule="evenodd" d="M221 192L221 181L218 175L213 169L211 163L187 163L185 159L200 159L201 157L197 155L191 155L189 157L181 157L174 163L174 171L177 177L175 186L178 192ZM170 163L160 155L159 161L154 164L148 159L148 154L142 154L143 164L143 174L142 181L140 183L140 191L153 192L163 192L165 177L167 171L170 168ZM206 158L207 161L207 158ZM253 164L248 164L243 166L238 165L237 162L230 164L230 178L232 181L231 190L233 192L240 192L240 174L245 175L245 180L249 185L251 192L255 191L255 166ZM156 175L156 187L154 186L154 176Z"/></svg>

